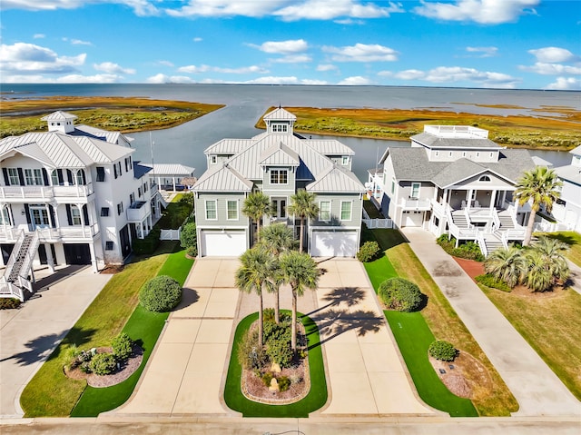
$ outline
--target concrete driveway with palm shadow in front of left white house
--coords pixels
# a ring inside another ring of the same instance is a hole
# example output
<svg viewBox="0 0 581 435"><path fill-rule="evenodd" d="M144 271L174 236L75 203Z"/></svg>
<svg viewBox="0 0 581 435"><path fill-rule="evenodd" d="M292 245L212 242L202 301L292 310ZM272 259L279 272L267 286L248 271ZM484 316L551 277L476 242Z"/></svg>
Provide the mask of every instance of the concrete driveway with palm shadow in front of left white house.
<svg viewBox="0 0 581 435"><path fill-rule="evenodd" d="M0 311L0 417L22 417L20 393L56 345L81 317L113 275L84 268L68 276L66 270L47 278L61 281L42 288L19 310ZM44 281L46 282L46 281Z"/></svg>

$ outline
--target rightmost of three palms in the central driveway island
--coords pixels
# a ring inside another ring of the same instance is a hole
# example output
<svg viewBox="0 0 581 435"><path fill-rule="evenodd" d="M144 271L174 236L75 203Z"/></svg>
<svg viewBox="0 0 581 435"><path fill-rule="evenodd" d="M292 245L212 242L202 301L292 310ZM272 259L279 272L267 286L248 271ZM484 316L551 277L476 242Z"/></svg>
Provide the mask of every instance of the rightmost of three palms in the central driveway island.
<svg viewBox="0 0 581 435"><path fill-rule="evenodd" d="M305 289L315 290L319 283L320 270L309 254L296 251L284 252L279 262L283 281L291 285L292 292L292 324L291 348L297 350L297 297L302 296Z"/></svg>

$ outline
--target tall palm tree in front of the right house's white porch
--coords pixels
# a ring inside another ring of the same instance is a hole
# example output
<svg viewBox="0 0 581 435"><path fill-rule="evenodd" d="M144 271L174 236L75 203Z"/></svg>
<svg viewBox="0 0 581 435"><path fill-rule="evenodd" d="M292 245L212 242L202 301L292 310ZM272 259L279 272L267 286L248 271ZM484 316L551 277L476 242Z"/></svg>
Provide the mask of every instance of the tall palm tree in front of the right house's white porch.
<svg viewBox="0 0 581 435"><path fill-rule="evenodd" d="M528 216L527 232L523 244L527 246L530 243L533 234L533 225L535 216L541 205L545 205L547 213L551 213L553 203L561 196L559 188L563 183L558 179L556 173L547 166L537 166L531 171L526 171L523 176L517 180L517 189L515 196L520 205L529 201L531 203L531 213Z"/></svg>

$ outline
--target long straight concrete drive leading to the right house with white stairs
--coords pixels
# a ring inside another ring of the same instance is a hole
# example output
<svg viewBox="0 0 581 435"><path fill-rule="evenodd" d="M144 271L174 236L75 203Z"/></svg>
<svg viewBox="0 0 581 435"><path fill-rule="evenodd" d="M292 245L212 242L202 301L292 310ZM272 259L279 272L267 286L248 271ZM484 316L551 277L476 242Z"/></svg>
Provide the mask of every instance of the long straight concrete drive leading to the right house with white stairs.
<svg viewBox="0 0 581 435"><path fill-rule="evenodd" d="M411 249L520 405L518 416L579 416L581 402L429 232L404 228Z"/></svg>

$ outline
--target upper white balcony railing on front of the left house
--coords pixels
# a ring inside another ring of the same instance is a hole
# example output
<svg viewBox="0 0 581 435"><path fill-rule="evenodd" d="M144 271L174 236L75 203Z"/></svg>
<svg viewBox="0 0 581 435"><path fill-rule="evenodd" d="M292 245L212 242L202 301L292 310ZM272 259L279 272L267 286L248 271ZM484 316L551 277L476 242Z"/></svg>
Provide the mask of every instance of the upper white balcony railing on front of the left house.
<svg viewBox="0 0 581 435"><path fill-rule="evenodd" d="M0 200L24 203L71 198L86 201L93 193L93 183L84 186L0 186Z"/></svg>

